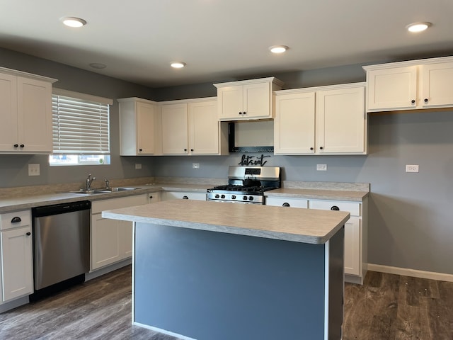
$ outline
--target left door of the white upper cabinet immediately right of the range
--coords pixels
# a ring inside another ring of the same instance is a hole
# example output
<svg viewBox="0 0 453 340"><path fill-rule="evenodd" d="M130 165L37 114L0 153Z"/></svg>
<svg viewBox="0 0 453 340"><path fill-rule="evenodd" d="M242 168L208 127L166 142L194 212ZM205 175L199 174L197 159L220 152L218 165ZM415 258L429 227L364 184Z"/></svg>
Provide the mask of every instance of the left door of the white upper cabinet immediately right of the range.
<svg viewBox="0 0 453 340"><path fill-rule="evenodd" d="M314 92L275 96L274 153L314 153Z"/></svg>

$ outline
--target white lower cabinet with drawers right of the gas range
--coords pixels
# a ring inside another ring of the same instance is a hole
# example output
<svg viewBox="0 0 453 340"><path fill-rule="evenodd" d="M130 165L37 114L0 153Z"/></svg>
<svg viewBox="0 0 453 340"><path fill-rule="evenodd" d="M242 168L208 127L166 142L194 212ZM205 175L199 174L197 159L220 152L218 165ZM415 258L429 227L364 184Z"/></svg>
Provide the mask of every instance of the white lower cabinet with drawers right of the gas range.
<svg viewBox="0 0 453 340"><path fill-rule="evenodd" d="M267 197L266 205L348 211L350 219L345 223L345 280L352 283L363 283L367 272L366 198L362 202L345 202L339 200Z"/></svg>

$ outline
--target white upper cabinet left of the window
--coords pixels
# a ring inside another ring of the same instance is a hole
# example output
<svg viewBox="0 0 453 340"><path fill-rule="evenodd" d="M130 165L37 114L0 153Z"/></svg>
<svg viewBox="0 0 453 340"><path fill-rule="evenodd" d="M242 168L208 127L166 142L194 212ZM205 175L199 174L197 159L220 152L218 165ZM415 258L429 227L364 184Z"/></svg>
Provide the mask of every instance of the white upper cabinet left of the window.
<svg viewBox="0 0 453 340"><path fill-rule="evenodd" d="M52 152L52 83L0 67L0 153Z"/></svg>

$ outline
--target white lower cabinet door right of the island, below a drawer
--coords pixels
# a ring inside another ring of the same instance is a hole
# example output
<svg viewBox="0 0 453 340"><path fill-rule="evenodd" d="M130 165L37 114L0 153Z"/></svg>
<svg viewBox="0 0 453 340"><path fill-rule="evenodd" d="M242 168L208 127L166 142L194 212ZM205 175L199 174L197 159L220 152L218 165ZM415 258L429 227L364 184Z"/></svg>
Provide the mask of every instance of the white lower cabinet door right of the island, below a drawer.
<svg viewBox="0 0 453 340"><path fill-rule="evenodd" d="M360 240L362 234L360 230L360 218L352 216L345 223L345 273L360 275L362 271L362 256L360 250Z"/></svg>

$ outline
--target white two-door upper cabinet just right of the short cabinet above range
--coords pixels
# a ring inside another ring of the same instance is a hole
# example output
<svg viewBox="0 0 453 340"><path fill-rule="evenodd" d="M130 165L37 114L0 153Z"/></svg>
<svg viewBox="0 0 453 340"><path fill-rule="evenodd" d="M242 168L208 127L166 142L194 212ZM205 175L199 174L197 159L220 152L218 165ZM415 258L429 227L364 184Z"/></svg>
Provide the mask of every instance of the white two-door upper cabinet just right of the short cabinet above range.
<svg viewBox="0 0 453 340"><path fill-rule="evenodd" d="M275 154L366 154L365 83L275 91Z"/></svg>

